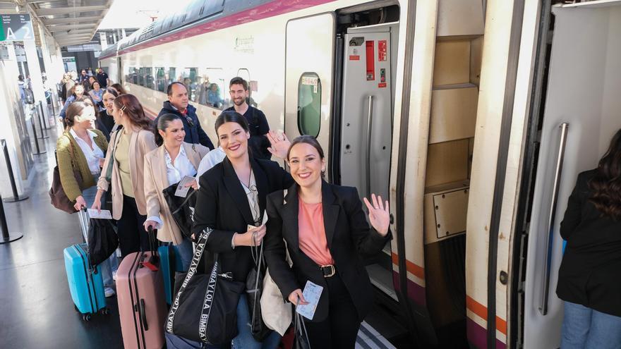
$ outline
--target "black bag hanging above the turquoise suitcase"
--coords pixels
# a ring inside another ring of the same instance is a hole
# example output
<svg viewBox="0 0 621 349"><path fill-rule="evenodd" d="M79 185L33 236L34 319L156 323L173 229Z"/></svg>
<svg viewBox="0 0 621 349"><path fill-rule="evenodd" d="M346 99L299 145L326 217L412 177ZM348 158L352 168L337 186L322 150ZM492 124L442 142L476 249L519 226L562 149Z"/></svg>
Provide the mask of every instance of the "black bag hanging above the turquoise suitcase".
<svg viewBox="0 0 621 349"><path fill-rule="evenodd" d="M88 259L93 266L104 262L119 247L119 238L108 219L90 219Z"/></svg>

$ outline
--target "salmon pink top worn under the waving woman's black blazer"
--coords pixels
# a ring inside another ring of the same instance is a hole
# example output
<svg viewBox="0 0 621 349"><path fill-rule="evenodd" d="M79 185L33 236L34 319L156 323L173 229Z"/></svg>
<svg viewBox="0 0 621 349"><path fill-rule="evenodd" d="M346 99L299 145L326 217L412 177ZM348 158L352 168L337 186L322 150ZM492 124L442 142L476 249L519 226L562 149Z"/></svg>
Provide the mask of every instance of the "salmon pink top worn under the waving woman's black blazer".
<svg viewBox="0 0 621 349"><path fill-rule="evenodd" d="M298 230L302 252L320 266L334 264L334 259L327 248L321 202L307 204L299 198Z"/></svg>

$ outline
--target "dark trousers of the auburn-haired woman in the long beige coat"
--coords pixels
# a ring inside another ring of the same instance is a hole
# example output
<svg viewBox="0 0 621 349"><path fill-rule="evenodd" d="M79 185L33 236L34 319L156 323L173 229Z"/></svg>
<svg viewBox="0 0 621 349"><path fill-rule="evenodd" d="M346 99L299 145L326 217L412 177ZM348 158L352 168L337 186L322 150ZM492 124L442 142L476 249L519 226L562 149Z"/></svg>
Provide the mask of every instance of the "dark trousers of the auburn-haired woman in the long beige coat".
<svg viewBox="0 0 621 349"><path fill-rule="evenodd" d="M147 216L138 213L135 199L123 195L123 213L121 214L121 219L116 221L121 257L129 255L131 252L150 250L149 235L143 226L146 220Z"/></svg>

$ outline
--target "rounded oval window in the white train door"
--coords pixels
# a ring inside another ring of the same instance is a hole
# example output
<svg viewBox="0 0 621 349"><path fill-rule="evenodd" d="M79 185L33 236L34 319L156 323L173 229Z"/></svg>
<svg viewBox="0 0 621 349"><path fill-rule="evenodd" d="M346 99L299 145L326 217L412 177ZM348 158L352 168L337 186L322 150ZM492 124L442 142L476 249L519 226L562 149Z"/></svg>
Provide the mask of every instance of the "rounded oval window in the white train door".
<svg viewBox="0 0 621 349"><path fill-rule="evenodd" d="M319 135L321 80L317 73L303 73L298 82L298 130L301 135Z"/></svg>

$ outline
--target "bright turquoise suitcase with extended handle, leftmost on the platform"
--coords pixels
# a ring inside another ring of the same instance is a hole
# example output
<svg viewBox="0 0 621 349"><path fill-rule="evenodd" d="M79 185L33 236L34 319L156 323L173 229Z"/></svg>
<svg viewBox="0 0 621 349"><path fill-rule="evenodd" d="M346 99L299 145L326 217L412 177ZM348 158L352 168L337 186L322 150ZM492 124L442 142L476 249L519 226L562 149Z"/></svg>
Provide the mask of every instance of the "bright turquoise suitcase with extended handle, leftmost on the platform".
<svg viewBox="0 0 621 349"><path fill-rule="evenodd" d="M88 214L84 209L78 212L78 216L83 238L88 243ZM102 270L101 267L93 268L88 262L87 243L71 245L64 250L69 292L76 310L85 321L97 312L108 314Z"/></svg>

